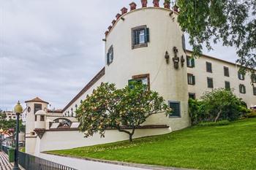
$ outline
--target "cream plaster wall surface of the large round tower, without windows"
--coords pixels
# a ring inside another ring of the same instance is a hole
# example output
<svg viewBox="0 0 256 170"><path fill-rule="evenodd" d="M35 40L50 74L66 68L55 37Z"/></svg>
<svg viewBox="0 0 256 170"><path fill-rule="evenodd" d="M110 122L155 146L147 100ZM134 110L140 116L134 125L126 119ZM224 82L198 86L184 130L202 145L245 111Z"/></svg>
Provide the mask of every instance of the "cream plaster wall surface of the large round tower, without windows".
<svg viewBox="0 0 256 170"><path fill-rule="evenodd" d="M113 45L113 63L105 64L105 81L115 82L123 88L133 75L150 74L151 90L156 90L166 101L181 102L181 118L169 118L165 114L149 117L146 124L167 124L173 130L189 126L187 112L187 68L186 63L176 70L173 67L173 47L178 48L178 57L186 56L182 48L181 28L177 20L170 17L170 10L148 7L123 15L107 36L105 63L108 49ZM148 47L132 50L132 28L146 25L149 28ZM169 64L165 52L170 55Z"/></svg>

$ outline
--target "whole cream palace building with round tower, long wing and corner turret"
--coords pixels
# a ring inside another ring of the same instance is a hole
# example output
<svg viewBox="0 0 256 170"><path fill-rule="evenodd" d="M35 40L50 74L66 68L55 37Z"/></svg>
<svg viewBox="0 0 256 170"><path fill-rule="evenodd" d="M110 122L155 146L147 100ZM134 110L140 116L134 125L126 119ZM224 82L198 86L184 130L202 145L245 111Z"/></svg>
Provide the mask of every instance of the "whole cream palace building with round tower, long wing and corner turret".
<svg viewBox="0 0 256 170"><path fill-rule="evenodd" d="M173 115L152 115L135 131L135 137L166 134L190 125L188 99L200 98L214 88L233 88L248 107L256 105L256 88L249 74L238 73L239 66L208 55L190 58L184 32L177 22L178 10L168 4L159 7L129 4L121 9L105 32L105 67L78 93L62 111L48 110L40 98L26 101L26 152L62 150L129 138L116 130L107 130L84 138L78 131L75 110L101 82L113 82L124 88L129 80L141 80L157 91L174 109ZM256 82L256 80L253 80Z"/></svg>

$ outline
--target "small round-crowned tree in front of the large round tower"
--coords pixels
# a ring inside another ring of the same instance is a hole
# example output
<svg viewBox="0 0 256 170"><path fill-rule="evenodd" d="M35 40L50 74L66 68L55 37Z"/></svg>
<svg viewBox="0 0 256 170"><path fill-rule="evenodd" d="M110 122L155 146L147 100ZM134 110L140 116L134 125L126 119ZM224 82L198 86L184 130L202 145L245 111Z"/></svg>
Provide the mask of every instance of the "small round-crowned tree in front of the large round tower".
<svg viewBox="0 0 256 170"><path fill-rule="evenodd" d="M80 131L86 137L95 133L105 137L107 128L116 128L128 134L132 142L135 128L159 112L171 113L165 100L157 92L148 90L146 85L132 82L132 86L122 89L116 89L114 84L102 83L86 97L76 113Z"/></svg>

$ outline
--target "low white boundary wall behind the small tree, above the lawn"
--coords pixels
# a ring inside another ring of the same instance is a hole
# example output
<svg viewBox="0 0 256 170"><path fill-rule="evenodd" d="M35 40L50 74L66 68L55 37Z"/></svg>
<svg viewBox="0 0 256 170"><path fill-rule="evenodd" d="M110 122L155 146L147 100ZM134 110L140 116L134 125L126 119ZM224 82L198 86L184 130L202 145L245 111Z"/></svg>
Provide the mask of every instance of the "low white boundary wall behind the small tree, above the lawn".
<svg viewBox="0 0 256 170"><path fill-rule="evenodd" d="M170 128L136 129L134 138L167 134L170 132ZM38 155L39 152L48 150L65 150L75 147L105 144L128 139L129 136L127 134L118 132L116 130L107 130L105 133L105 138L100 138L99 134L94 134L92 137L84 138L83 133L79 131L46 131L41 140L39 137L37 137L35 155Z"/></svg>

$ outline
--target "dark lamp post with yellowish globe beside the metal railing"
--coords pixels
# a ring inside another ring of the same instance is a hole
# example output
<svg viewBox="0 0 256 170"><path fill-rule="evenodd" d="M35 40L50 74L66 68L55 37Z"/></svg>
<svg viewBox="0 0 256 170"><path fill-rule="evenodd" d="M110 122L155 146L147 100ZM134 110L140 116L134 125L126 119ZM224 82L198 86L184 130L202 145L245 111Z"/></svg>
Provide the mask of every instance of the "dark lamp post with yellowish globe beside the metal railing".
<svg viewBox="0 0 256 170"><path fill-rule="evenodd" d="M22 113L23 108L20 105L20 101L14 107L14 112L16 113L16 140L15 140L15 159L14 166L12 170L20 170L18 165L18 153L19 153L19 121L20 121L20 113Z"/></svg>

